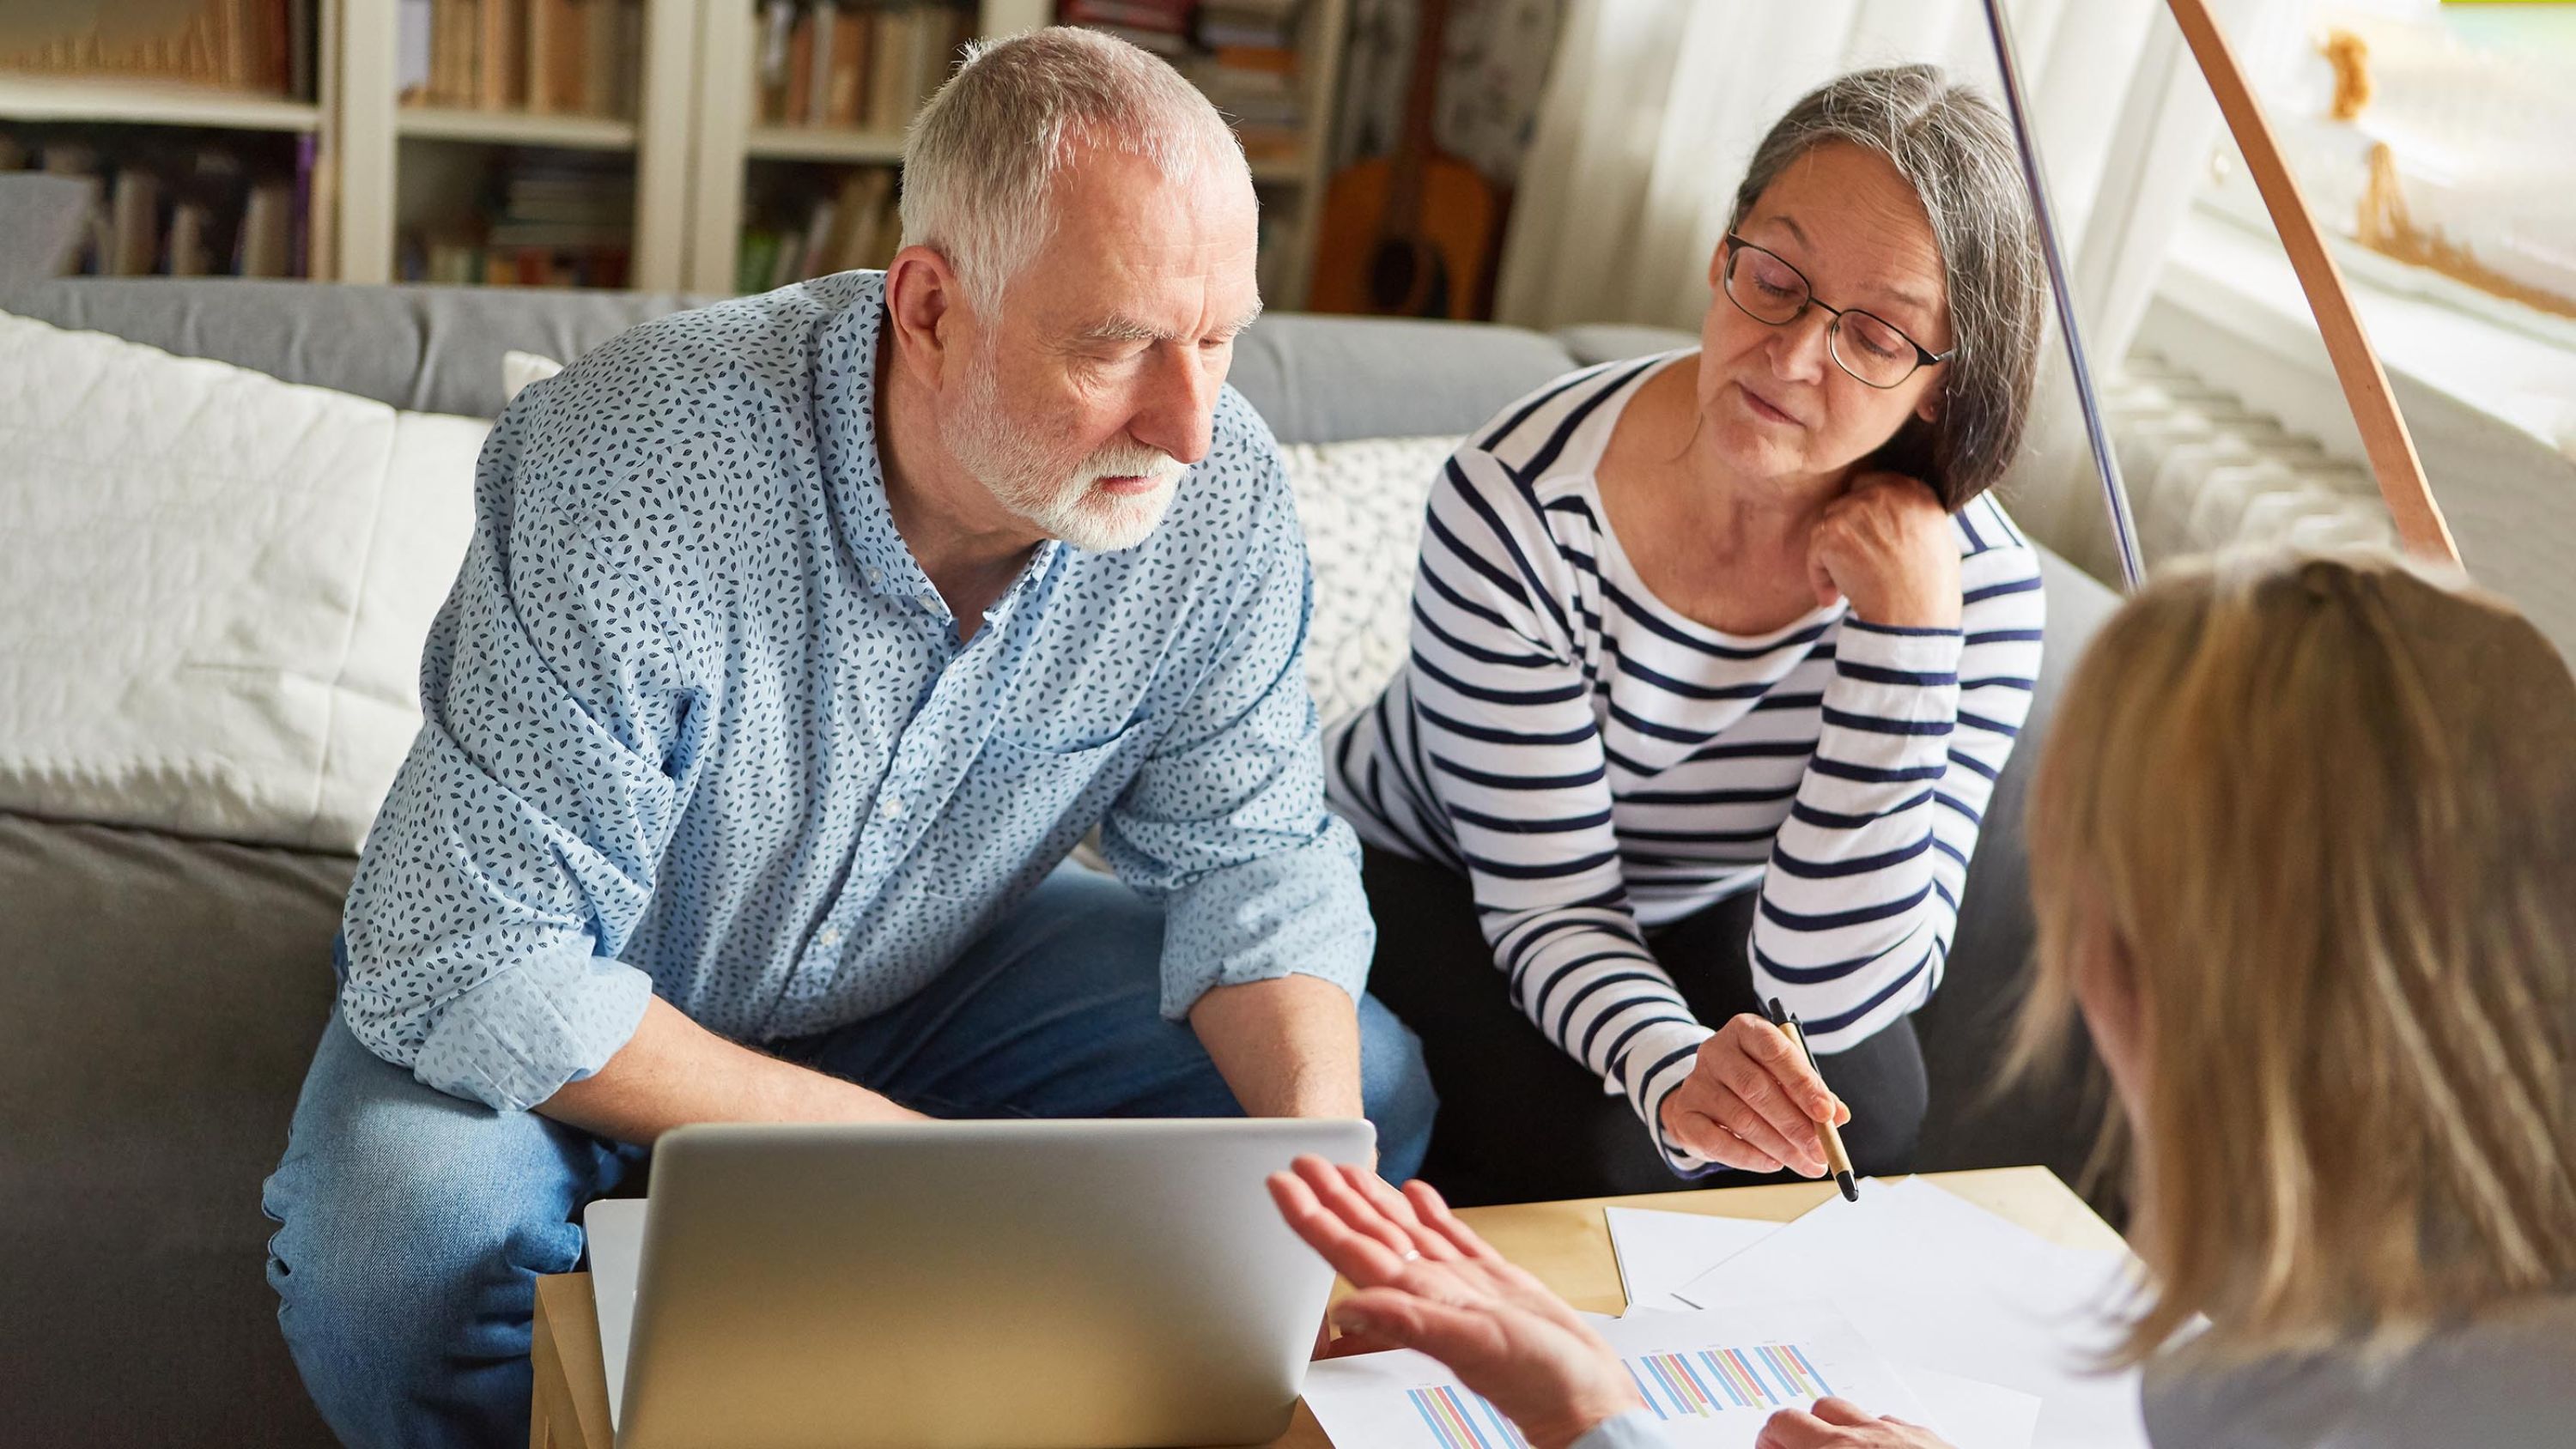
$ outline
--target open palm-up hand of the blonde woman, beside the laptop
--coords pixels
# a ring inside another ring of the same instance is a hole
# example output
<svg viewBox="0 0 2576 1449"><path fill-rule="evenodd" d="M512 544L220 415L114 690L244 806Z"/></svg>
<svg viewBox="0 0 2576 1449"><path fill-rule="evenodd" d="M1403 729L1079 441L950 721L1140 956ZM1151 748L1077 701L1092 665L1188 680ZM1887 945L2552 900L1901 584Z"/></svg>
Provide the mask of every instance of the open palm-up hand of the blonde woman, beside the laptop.
<svg viewBox="0 0 2576 1449"><path fill-rule="evenodd" d="M1425 1181L1386 1186L1360 1166L1303 1156L1270 1174L1270 1199L1352 1292L1334 1305L1337 1354L1417 1349L1494 1403L1533 1449L1564 1449L1643 1408L1610 1343L1566 1300L1512 1266Z"/></svg>

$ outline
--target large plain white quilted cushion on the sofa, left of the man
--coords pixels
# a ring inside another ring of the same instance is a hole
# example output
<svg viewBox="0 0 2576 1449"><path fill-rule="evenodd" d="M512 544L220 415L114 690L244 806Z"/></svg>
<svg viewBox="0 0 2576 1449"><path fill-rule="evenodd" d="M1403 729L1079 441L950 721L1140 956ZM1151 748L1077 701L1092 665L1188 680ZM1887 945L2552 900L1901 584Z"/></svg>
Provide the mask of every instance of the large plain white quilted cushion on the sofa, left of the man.
<svg viewBox="0 0 2576 1449"><path fill-rule="evenodd" d="M487 432L0 314L0 808L355 849Z"/></svg>

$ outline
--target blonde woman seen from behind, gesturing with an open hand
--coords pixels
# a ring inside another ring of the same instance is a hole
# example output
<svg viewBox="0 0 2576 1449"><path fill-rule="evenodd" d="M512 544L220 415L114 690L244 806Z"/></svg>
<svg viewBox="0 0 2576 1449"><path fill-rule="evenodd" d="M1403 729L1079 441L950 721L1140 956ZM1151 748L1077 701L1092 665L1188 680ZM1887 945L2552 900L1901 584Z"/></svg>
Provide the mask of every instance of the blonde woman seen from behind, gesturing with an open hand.
<svg viewBox="0 0 2576 1449"><path fill-rule="evenodd" d="M2159 1446L2576 1441L2576 682L2380 556L2177 571L2094 641L2030 811L2025 1042L2081 1009L2125 1107ZM1273 1181L1538 1449L1654 1421L1422 1184ZM1412 1259L1409 1253L1419 1253ZM2192 1331L2195 1320L2208 1325ZM1821 1400L1772 1449L1929 1449Z"/></svg>

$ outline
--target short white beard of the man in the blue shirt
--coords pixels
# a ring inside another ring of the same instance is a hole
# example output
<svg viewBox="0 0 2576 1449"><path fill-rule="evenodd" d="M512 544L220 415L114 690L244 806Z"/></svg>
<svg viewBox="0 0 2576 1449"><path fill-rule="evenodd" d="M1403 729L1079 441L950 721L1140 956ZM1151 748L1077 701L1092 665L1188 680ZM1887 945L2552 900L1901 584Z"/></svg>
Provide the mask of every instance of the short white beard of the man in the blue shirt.
<svg viewBox="0 0 2576 1449"><path fill-rule="evenodd" d="M963 407L940 427L948 456L984 484L994 502L1087 553L1133 548L1162 525L1188 466L1126 438L1066 466L1036 432L1012 427L1002 412L999 365L984 358ZM1154 479L1144 494L1105 494L1100 479Z"/></svg>

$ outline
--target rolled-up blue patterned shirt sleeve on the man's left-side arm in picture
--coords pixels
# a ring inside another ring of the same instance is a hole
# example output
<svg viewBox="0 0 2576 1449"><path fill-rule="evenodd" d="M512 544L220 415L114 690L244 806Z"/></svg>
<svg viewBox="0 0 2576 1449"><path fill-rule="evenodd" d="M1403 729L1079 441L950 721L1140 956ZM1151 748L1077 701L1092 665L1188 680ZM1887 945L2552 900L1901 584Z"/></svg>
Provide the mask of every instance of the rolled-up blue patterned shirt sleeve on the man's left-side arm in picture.
<svg viewBox="0 0 2576 1449"><path fill-rule="evenodd" d="M701 713L667 592L544 386L477 466L474 540L420 664L422 726L343 919L340 1006L425 1086L502 1112L595 1073L652 981L654 891Z"/></svg>

